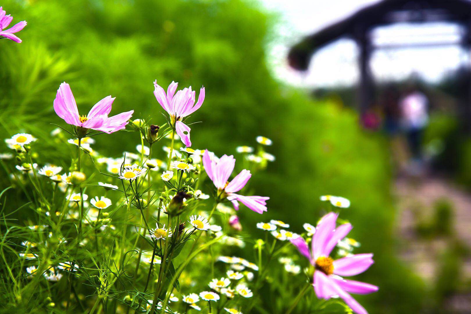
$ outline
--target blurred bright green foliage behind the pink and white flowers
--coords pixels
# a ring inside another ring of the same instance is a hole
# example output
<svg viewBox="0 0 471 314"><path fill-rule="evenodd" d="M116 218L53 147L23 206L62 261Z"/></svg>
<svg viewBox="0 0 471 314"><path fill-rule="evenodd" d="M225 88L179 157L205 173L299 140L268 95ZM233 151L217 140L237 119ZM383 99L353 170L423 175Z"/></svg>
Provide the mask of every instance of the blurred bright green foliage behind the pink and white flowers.
<svg viewBox="0 0 471 314"><path fill-rule="evenodd" d="M362 243L358 252L374 252L376 262L358 278L380 286L378 293L358 300L371 313L417 313L430 298L430 289L396 257L389 143L362 130L357 113L339 101L312 100L272 78L266 44L277 16L244 0L6 0L2 5L14 23L28 22L19 34L23 43L0 42L2 138L31 133L47 152L42 162L65 164L68 144L55 147L48 141L55 128L50 123L63 123L52 108L62 81L71 85L81 113L111 94L116 97L112 113L134 109L134 118L150 116L155 124L164 120L154 80L164 87L172 80L181 87L204 85L203 107L191 118L202 121L192 126L194 148L221 155L235 153L237 145L254 145L258 135L274 142L268 152L276 162L251 180L257 194L270 196L268 213L261 218L242 209L245 229L276 218L301 232L303 223L315 224L328 210L319 195L347 197L352 206L342 215L355 226L351 236ZM452 134L453 122L437 119L436 125L430 138ZM94 148L110 157L133 152L138 144L131 132L97 140ZM470 177L463 173L461 179L470 182ZM8 186L4 176L1 184Z"/></svg>

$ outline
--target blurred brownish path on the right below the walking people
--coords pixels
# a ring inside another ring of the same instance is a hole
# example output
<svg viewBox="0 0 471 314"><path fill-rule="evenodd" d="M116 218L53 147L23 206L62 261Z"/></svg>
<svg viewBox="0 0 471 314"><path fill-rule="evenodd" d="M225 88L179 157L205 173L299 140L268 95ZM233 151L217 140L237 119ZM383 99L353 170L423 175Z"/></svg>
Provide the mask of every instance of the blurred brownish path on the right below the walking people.
<svg viewBox="0 0 471 314"><path fill-rule="evenodd" d="M448 249L450 238L458 239L471 248L471 194L447 179L398 177L393 188L398 208L397 234L400 257L419 274L425 283L433 285L439 272L440 257ZM433 220L437 202L452 204L451 237L419 234L418 225ZM461 278L471 282L471 258L462 259ZM448 309L456 313L471 313L471 295L455 294L448 300ZM470 312L466 312L466 311ZM464 312L463 312L464 311Z"/></svg>

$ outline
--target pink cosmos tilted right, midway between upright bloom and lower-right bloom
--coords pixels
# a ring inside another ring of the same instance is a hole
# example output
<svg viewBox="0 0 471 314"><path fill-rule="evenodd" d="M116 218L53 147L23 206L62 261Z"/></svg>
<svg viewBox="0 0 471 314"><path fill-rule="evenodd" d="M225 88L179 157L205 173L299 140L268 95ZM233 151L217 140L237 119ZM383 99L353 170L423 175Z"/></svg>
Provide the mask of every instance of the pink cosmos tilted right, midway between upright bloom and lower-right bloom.
<svg viewBox="0 0 471 314"><path fill-rule="evenodd" d="M249 170L244 169L235 176L231 182L227 181L234 170L234 156L224 155L219 159L219 161L214 161L211 160L208 150L206 150L203 154L203 166L208 177L218 188L218 195L227 198L228 201L232 201L232 205L235 210L239 210L238 201L240 201L242 204L259 214L267 211L266 201L270 199L269 197L244 196L235 193L240 191L247 184L250 177L252 177Z"/></svg>

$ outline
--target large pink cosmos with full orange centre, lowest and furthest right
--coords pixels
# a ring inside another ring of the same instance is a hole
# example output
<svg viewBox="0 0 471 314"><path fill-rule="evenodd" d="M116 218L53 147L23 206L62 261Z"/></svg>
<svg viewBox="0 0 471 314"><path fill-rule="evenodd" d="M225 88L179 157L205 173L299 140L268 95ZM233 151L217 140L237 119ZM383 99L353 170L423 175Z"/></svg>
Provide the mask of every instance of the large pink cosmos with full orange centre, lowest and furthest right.
<svg viewBox="0 0 471 314"><path fill-rule="evenodd" d="M314 271L314 291L317 298L330 299L339 296L357 314L367 314L365 308L350 296L349 292L368 294L378 291L378 287L365 282L343 279L341 276L354 276L363 273L373 263L373 254L355 254L333 260L329 257L337 243L345 238L352 225L336 226L338 214L328 213L317 224L312 236L311 251L302 237L291 239L302 255L309 259Z"/></svg>

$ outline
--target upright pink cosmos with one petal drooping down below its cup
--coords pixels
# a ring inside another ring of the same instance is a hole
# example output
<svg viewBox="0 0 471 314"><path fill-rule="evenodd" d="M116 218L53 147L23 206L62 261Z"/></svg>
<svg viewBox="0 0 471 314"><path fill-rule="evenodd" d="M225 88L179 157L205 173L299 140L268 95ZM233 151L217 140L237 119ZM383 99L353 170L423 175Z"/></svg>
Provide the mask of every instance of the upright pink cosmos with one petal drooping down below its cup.
<svg viewBox="0 0 471 314"><path fill-rule="evenodd" d="M191 86L179 90L177 94L175 94L177 86L178 83L172 81L167 89L167 94L165 94L165 90L157 84L157 81L154 81L154 95L162 108L170 115L171 123L175 124L175 129L183 144L189 147L191 146L191 129L183 123L183 120L185 120L184 118L186 116L194 113L203 105L205 94L204 87L200 89L200 95L195 105L196 92L191 90Z"/></svg>

